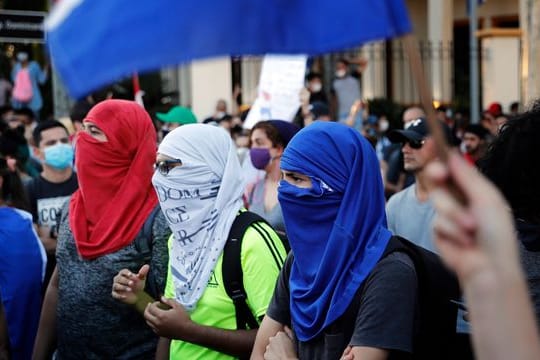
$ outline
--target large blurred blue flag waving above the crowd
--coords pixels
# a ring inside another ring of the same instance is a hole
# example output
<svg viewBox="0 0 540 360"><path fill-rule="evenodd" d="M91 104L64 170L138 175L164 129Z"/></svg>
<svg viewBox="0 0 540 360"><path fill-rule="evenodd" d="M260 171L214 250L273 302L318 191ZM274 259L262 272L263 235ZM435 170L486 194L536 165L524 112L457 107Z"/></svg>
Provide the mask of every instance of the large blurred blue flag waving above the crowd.
<svg viewBox="0 0 540 360"><path fill-rule="evenodd" d="M220 55L309 54L411 31L403 0L62 0L46 21L74 97L134 72Z"/></svg>

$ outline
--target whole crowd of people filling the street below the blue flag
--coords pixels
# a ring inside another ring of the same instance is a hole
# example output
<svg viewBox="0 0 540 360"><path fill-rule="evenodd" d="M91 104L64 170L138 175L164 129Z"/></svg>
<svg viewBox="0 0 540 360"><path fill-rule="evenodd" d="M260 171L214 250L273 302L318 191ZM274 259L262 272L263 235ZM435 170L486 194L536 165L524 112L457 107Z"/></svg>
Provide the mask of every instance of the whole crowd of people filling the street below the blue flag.
<svg viewBox="0 0 540 360"><path fill-rule="evenodd" d="M443 162L422 108L370 113L361 60L246 130L223 100L203 121L118 99L40 119L46 70L17 59L33 99L0 114L0 359L419 358L406 240L459 280L454 356L540 357L540 103L438 108Z"/></svg>

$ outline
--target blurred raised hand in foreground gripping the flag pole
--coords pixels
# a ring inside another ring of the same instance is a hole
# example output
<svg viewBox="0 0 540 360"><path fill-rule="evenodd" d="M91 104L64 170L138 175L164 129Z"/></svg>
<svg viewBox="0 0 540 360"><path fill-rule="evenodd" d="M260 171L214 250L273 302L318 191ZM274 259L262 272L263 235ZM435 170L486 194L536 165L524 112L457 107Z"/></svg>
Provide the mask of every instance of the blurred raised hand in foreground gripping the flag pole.
<svg viewBox="0 0 540 360"><path fill-rule="evenodd" d="M518 255L511 211L495 186L455 153L448 167L436 163L428 171L436 186L435 242L447 265L460 279L485 269L513 267ZM444 185L449 178L464 203Z"/></svg>

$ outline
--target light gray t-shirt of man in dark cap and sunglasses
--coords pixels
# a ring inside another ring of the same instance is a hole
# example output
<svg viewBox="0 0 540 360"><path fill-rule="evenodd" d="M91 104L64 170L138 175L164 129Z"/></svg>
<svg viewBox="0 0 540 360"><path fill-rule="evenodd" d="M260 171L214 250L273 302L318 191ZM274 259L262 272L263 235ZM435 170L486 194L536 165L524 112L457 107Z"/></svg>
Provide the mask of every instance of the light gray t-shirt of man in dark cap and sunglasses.
<svg viewBox="0 0 540 360"><path fill-rule="evenodd" d="M437 253L433 243L435 208L431 200L416 198L416 184L394 194L386 204L388 230L412 243Z"/></svg>

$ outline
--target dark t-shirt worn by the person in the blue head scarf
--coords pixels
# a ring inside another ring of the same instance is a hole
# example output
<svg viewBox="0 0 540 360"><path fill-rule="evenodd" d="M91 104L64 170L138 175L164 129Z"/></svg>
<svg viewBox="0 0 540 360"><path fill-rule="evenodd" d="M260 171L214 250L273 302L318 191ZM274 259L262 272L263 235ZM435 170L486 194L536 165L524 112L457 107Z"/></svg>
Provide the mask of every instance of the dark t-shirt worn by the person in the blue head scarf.
<svg viewBox="0 0 540 360"><path fill-rule="evenodd" d="M273 320L288 326L291 325L289 276L293 261L291 253L266 312ZM394 252L384 257L359 289L359 301L350 305L358 307L356 315L349 309L336 320L339 323L331 324L316 338L297 341L299 359L339 359L349 344L389 350L389 359L410 359L418 327L417 287L414 264L406 254Z"/></svg>

